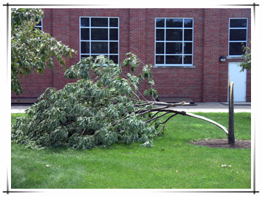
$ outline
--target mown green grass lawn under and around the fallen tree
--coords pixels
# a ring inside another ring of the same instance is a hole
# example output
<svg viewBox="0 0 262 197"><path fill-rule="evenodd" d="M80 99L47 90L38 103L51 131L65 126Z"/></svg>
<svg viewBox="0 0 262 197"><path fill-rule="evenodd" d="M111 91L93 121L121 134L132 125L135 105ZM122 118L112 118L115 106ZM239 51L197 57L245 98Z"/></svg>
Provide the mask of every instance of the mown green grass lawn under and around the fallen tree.
<svg viewBox="0 0 262 197"><path fill-rule="evenodd" d="M227 113L195 113L228 127ZM12 123L17 116L12 114ZM167 116L166 116L167 117ZM165 118L166 118L165 117ZM251 114L234 114L236 139L250 140ZM251 150L209 148L190 141L227 138L215 125L175 116L153 147L115 144L91 150L12 144L12 189L250 189ZM221 165L232 167L221 167Z"/></svg>

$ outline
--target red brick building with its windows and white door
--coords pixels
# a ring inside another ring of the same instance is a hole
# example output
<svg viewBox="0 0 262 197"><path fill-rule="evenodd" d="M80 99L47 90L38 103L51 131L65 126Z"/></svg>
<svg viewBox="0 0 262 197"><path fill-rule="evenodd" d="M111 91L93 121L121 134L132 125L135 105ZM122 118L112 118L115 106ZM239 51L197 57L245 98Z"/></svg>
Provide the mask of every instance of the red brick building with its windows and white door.
<svg viewBox="0 0 262 197"><path fill-rule="evenodd" d="M239 72L241 43L251 41L250 9L43 9L39 28L78 51L81 57L105 54L120 63L133 52L152 72L161 97L189 97L195 102L228 101L228 74L235 101L251 101L250 70ZM226 56L226 61L219 61ZM128 72L128 70L124 70ZM47 87L70 83L63 68L32 74L23 94L12 101L37 98ZM141 90L146 87L142 84Z"/></svg>

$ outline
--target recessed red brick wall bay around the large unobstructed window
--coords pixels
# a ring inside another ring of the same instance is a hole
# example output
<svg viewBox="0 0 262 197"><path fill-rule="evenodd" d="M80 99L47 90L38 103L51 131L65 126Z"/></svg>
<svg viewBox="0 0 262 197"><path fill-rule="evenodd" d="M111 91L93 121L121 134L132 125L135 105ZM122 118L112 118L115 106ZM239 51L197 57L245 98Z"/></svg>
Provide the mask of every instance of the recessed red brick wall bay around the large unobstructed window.
<svg viewBox="0 0 262 197"><path fill-rule="evenodd" d="M146 63L154 65L155 61L155 18L188 17L194 18L194 51L195 68L155 67L153 76L157 90L163 97L190 97L201 101L203 83L203 9L148 9L146 10Z"/></svg>

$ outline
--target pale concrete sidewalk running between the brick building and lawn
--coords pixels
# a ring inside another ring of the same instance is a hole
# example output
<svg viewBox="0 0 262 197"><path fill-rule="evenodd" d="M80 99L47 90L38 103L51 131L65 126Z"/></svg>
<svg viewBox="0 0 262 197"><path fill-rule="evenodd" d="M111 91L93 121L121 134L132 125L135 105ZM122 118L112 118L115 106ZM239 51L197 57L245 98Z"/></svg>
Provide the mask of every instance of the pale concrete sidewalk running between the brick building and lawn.
<svg viewBox="0 0 262 197"><path fill-rule="evenodd" d="M24 113L30 105L11 105L11 113ZM228 112L227 103L195 103L195 105L184 105L175 107L175 110L185 112ZM250 112L251 103L234 103L234 112Z"/></svg>

